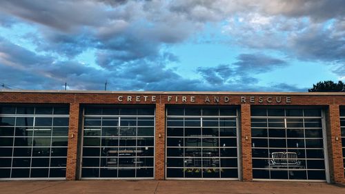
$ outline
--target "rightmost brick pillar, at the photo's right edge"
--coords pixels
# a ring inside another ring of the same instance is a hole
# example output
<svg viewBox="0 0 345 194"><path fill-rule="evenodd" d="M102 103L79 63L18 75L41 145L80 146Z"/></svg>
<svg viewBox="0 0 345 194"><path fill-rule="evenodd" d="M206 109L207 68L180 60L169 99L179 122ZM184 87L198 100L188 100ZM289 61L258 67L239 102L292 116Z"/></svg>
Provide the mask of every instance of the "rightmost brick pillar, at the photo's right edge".
<svg viewBox="0 0 345 194"><path fill-rule="evenodd" d="M342 134L338 105L330 105L326 113L328 165L331 182L345 183L342 159ZM338 140L337 140L337 139Z"/></svg>

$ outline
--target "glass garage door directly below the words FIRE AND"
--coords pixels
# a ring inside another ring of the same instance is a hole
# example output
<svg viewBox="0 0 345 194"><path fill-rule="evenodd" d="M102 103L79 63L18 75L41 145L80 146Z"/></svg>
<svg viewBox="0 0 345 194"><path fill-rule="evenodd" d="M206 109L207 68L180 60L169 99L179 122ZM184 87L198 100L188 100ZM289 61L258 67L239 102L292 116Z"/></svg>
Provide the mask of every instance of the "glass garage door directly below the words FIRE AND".
<svg viewBox="0 0 345 194"><path fill-rule="evenodd" d="M167 179L238 179L237 110L168 108Z"/></svg>

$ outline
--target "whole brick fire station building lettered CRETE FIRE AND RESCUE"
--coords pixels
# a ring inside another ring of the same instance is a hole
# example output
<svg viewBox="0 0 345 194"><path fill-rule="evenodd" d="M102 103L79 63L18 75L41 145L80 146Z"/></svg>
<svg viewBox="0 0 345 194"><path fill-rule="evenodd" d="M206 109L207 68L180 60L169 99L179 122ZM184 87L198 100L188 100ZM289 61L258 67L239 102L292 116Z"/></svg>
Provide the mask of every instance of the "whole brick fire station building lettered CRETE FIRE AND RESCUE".
<svg viewBox="0 0 345 194"><path fill-rule="evenodd" d="M344 158L344 93L0 92L0 180L345 183Z"/></svg>

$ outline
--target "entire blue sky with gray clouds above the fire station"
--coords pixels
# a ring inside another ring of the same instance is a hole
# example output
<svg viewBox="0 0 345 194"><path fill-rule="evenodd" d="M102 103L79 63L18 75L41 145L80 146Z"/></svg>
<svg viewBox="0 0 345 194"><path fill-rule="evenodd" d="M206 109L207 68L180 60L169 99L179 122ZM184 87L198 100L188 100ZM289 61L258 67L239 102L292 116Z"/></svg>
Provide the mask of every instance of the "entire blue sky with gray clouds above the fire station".
<svg viewBox="0 0 345 194"><path fill-rule="evenodd" d="M0 84L307 91L345 81L344 0L1 0Z"/></svg>

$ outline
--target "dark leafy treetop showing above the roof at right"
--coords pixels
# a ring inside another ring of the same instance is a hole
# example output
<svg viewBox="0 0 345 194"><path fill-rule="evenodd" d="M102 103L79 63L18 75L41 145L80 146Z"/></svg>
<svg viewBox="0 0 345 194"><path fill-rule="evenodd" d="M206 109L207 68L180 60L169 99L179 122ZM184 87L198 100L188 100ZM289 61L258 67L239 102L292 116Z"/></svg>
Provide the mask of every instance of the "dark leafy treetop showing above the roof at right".
<svg viewBox="0 0 345 194"><path fill-rule="evenodd" d="M313 84L313 88L308 89L309 93L313 92L345 92L345 85L342 81L334 83L333 81L319 81Z"/></svg>

